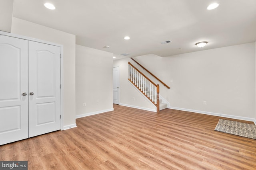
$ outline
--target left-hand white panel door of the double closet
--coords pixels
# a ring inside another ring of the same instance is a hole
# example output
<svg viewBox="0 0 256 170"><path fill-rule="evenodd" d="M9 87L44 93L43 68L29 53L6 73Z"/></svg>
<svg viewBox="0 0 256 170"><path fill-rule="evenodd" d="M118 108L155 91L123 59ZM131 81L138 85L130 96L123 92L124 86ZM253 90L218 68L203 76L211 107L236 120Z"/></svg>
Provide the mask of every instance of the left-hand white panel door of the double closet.
<svg viewBox="0 0 256 170"><path fill-rule="evenodd" d="M0 145L28 138L27 94L28 41L0 35Z"/></svg>

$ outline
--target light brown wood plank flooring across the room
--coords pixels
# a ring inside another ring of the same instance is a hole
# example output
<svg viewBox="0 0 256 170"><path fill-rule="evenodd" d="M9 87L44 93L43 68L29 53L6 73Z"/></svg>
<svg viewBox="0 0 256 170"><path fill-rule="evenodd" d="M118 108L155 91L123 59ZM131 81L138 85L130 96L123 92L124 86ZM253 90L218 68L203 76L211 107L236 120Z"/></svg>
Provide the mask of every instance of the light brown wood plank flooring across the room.
<svg viewBox="0 0 256 170"><path fill-rule="evenodd" d="M214 131L220 118L114 105L76 128L2 145L0 160L28 160L29 170L256 169L256 140Z"/></svg>

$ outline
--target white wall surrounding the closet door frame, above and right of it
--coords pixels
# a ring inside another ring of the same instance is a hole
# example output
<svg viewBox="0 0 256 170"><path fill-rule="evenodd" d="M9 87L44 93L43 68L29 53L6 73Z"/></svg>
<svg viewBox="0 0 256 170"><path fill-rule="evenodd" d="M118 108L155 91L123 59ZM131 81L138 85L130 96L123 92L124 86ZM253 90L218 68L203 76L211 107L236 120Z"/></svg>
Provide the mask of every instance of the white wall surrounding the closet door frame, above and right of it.
<svg viewBox="0 0 256 170"><path fill-rule="evenodd" d="M64 126L76 123L76 37L56 29L12 18L11 33L64 45Z"/></svg>

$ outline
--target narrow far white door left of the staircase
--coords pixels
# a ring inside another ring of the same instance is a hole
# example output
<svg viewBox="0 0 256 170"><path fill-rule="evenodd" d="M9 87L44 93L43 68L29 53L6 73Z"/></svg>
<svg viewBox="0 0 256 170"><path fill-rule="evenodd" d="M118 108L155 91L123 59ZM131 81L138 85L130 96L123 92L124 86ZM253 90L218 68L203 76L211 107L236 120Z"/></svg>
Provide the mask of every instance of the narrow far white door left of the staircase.
<svg viewBox="0 0 256 170"><path fill-rule="evenodd" d="M113 104L119 104L119 67L113 68Z"/></svg>

